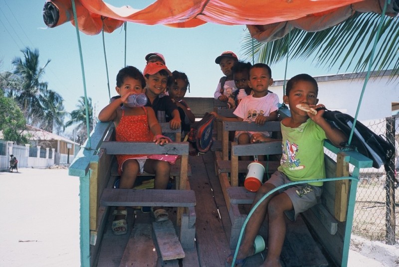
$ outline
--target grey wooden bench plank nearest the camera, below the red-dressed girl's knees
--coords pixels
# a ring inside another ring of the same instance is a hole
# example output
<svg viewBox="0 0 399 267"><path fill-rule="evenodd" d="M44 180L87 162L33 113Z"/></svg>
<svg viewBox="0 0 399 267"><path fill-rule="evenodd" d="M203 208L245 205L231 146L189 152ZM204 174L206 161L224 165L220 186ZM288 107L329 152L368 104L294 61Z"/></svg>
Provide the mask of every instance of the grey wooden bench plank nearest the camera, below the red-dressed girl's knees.
<svg viewBox="0 0 399 267"><path fill-rule="evenodd" d="M193 190L105 188L100 203L103 206L194 207L196 195Z"/></svg>

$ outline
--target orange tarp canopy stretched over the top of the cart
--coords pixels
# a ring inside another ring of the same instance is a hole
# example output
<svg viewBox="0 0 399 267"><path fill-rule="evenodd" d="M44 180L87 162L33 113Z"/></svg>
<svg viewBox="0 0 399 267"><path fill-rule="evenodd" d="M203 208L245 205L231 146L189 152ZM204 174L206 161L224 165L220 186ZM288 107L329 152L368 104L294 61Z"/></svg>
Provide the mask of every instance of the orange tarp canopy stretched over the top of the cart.
<svg viewBox="0 0 399 267"><path fill-rule="evenodd" d="M286 34L288 25L318 31L340 23L355 10L381 12L384 1L157 0L144 9L134 9L128 5L115 7L103 0L75 0L75 5L79 30L89 35L100 33L103 23L104 30L112 32L124 21L172 27L196 27L211 22L247 25L253 37L268 41ZM71 0L46 1L43 18L49 27L73 23Z"/></svg>

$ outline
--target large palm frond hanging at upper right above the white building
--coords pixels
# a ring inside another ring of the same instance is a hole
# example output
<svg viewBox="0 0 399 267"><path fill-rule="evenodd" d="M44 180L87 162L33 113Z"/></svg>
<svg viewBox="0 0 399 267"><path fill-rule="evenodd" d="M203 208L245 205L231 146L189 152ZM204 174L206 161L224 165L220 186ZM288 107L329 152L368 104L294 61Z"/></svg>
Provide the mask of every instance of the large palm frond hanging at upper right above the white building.
<svg viewBox="0 0 399 267"><path fill-rule="evenodd" d="M249 33L244 36L242 50L247 60L275 64L287 57L290 59L313 60L318 66L331 69L338 65L338 70L362 72L367 69L371 60L371 47L377 36L381 15L377 13L355 14L346 21L331 28L306 32L292 29L290 35L268 42L259 43ZM378 45L372 69L378 74L387 69L394 69L391 76L399 74L399 18L385 16L381 34L377 36ZM288 50L289 48L289 50Z"/></svg>

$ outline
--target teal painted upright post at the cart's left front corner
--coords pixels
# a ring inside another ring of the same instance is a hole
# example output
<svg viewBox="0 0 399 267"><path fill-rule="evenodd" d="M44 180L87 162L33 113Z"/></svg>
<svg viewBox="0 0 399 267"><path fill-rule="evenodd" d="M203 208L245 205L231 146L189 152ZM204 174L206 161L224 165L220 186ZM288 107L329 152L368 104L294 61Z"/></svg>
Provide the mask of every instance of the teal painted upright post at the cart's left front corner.
<svg viewBox="0 0 399 267"><path fill-rule="evenodd" d="M89 200L90 200L90 173L80 177L80 266L90 267L90 227L89 227Z"/></svg>

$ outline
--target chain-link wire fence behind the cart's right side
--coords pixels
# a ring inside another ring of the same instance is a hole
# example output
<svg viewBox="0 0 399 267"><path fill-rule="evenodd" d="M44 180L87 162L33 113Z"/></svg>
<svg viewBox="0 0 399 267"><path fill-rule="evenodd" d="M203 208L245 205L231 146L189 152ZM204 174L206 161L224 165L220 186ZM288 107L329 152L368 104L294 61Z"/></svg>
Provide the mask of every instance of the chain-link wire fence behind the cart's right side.
<svg viewBox="0 0 399 267"><path fill-rule="evenodd" d="M366 125L395 142L396 154L386 167L361 170L352 229L358 236L389 245L399 241L398 122L395 115Z"/></svg>

